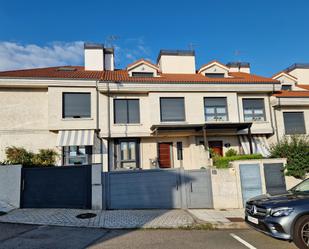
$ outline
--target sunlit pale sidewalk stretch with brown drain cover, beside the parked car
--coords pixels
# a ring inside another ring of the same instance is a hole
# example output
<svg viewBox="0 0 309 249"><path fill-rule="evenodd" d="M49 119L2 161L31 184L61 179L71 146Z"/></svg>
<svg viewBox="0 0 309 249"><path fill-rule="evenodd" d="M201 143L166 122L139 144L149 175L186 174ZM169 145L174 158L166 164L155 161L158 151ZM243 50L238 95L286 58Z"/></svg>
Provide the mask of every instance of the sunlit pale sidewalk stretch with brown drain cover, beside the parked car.
<svg viewBox="0 0 309 249"><path fill-rule="evenodd" d="M216 228L245 228L244 209L190 209L199 222L211 223Z"/></svg>

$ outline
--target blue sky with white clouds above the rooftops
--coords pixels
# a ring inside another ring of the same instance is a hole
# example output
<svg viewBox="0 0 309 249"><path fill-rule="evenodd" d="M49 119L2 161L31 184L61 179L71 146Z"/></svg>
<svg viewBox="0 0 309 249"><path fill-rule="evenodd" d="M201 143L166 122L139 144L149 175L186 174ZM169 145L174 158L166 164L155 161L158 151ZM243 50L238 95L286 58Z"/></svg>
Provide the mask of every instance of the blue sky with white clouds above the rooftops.
<svg viewBox="0 0 309 249"><path fill-rule="evenodd" d="M270 76L309 62L309 1L2 1L0 70L82 64L82 42L116 40L116 66L160 49L210 60L248 61Z"/></svg>

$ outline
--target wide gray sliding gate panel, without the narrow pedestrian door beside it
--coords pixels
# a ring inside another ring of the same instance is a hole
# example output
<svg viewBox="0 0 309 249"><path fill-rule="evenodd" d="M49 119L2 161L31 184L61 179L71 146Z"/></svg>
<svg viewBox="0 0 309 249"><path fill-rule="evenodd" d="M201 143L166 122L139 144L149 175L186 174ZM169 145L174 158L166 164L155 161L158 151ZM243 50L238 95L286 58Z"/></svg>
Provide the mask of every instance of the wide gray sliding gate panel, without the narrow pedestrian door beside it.
<svg viewBox="0 0 309 249"><path fill-rule="evenodd" d="M108 209L180 208L178 170L104 173Z"/></svg>

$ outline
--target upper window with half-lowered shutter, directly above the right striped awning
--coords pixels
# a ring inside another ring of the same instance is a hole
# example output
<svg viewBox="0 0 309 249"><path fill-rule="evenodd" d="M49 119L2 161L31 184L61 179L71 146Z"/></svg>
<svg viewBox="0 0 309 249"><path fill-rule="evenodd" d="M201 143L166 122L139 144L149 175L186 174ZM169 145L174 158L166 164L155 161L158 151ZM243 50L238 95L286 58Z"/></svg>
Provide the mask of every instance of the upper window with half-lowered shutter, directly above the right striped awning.
<svg viewBox="0 0 309 249"><path fill-rule="evenodd" d="M264 99L243 99L244 120L264 121Z"/></svg>

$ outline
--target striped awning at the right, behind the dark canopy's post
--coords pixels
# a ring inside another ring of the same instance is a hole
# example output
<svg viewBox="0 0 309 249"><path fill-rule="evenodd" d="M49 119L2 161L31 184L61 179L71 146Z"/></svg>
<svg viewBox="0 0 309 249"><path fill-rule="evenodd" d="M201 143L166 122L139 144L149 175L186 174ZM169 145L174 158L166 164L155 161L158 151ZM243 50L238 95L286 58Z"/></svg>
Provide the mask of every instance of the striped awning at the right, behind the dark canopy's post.
<svg viewBox="0 0 309 249"><path fill-rule="evenodd" d="M245 154L250 154L249 139L246 135L240 136L241 146ZM269 144L265 135L252 135L253 153L259 153L265 157L269 156Z"/></svg>

